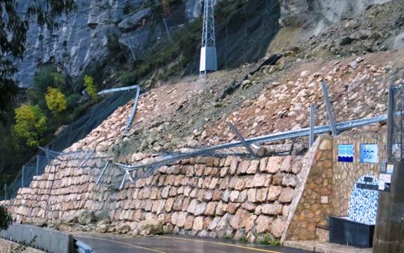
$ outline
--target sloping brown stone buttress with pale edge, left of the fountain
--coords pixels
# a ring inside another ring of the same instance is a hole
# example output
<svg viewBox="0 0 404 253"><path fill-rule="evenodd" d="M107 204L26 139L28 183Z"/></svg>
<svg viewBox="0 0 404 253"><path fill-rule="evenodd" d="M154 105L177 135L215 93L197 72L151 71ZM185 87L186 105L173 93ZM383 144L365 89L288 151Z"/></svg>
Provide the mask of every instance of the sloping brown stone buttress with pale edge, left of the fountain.
<svg viewBox="0 0 404 253"><path fill-rule="evenodd" d="M291 205L283 240L313 240L316 226L325 226L332 214L332 137L318 136L304 156L304 171Z"/></svg>

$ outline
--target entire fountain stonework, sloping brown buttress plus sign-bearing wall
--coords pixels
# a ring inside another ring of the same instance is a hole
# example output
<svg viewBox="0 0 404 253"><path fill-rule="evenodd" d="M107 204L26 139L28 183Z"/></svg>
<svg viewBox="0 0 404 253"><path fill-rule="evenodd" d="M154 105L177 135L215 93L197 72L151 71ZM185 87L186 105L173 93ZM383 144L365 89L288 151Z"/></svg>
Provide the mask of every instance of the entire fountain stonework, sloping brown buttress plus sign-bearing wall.
<svg viewBox="0 0 404 253"><path fill-rule="evenodd" d="M339 144L354 145L353 162L338 162ZM360 144L379 144L379 162L360 163ZM354 184L365 174L379 176L385 150L385 134L318 136L304 157L282 241L317 239L316 226L326 226L331 215L346 216Z"/></svg>

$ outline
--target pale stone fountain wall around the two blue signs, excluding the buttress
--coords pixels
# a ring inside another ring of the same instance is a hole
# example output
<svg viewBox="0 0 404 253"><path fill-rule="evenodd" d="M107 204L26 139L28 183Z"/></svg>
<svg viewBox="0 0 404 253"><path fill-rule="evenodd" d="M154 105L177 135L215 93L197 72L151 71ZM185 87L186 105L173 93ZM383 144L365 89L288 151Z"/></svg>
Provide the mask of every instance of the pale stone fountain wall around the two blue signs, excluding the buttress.
<svg viewBox="0 0 404 253"><path fill-rule="evenodd" d="M360 162L360 144L379 144L379 162ZM338 162L338 145L353 144L353 162ZM333 141L332 163L334 173L332 175L332 214L345 216L348 214L348 202L351 190L360 178L370 174L379 178L379 169L386 157L386 134L356 134L349 136L337 136Z"/></svg>

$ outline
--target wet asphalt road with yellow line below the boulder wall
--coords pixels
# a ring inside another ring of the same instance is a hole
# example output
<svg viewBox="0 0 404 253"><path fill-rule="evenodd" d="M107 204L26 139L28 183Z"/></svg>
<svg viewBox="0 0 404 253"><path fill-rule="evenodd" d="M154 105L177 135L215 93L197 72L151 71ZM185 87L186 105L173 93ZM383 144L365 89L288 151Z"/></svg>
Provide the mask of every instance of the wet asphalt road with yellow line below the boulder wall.
<svg viewBox="0 0 404 253"><path fill-rule="evenodd" d="M74 233L74 238L93 247L96 253L305 253L287 247L241 244L232 240L189 238L171 235L124 238L119 235Z"/></svg>

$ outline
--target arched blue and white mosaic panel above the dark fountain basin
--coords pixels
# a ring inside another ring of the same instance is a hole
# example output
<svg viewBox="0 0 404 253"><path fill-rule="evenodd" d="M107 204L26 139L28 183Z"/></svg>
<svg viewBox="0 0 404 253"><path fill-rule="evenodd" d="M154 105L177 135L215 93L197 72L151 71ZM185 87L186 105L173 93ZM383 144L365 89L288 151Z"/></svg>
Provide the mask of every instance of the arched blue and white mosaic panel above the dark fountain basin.
<svg viewBox="0 0 404 253"><path fill-rule="evenodd" d="M371 180L366 180L371 179ZM361 176L353 186L349 198L348 216L352 221L367 225L376 224L377 205L379 203L379 191L357 188L356 184L367 184L377 186L378 181L372 175Z"/></svg>

